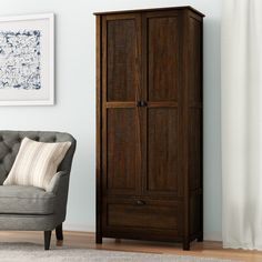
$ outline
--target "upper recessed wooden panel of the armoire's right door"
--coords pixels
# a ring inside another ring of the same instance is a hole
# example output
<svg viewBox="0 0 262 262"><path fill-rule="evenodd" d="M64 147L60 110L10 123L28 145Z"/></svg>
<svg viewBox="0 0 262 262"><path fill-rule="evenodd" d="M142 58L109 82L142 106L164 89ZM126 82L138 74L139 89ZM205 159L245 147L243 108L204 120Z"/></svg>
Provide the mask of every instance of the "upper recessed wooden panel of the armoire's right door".
<svg viewBox="0 0 262 262"><path fill-rule="evenodd" d="M178 101L179 18L150 17L148 23L148 100Z"/></svg>

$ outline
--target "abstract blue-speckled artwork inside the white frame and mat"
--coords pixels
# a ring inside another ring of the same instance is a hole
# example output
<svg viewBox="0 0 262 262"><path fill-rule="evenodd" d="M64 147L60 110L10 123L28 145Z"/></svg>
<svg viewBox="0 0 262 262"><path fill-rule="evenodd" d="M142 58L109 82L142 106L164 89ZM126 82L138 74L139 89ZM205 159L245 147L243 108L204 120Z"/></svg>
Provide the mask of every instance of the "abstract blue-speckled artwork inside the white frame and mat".
<svg viewBox="0 0 262 262"><path fill-rule="evenodd" d="M41 31L0 31L0 89L41 89Z"/></svg>

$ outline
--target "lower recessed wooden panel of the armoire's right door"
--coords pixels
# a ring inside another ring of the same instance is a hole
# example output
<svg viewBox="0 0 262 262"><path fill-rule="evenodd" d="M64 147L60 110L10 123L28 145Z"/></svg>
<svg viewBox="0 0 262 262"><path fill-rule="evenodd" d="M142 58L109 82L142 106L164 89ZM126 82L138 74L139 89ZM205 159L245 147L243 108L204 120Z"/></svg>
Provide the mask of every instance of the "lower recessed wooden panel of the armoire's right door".
<svg viewBox="0 0 262 262"><path fill-rule="evenodd" d="M147 191L175 194L179 188L177 108L148 109Z"/></svg>

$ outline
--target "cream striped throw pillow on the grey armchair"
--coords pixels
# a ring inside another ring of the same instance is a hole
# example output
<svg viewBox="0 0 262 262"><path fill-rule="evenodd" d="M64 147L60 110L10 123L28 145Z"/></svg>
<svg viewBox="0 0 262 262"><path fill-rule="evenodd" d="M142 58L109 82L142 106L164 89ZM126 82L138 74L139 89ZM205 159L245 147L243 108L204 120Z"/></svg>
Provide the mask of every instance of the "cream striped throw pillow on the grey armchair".
<svg viewBox="0 0 262 262"><path fill-rule="evenodd" d="M71 142L44 143L24 138L3 184L33 185L47 190L70 145Z"/></svg>

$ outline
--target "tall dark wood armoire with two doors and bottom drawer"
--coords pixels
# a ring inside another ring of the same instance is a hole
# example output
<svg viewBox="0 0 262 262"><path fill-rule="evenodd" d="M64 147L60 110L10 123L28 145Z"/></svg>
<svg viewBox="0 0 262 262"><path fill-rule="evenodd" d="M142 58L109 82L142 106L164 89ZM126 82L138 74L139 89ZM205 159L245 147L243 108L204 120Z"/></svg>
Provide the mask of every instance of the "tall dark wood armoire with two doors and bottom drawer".
<svg viewBox="0 0 262 262"><path fill-rule="evenodd" d="M203 239L203 14L97 16L97 243Z"/></svg>

